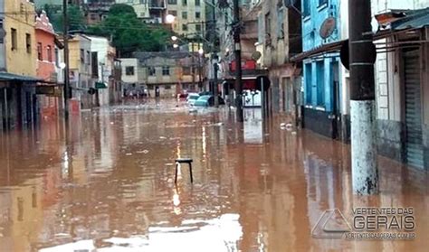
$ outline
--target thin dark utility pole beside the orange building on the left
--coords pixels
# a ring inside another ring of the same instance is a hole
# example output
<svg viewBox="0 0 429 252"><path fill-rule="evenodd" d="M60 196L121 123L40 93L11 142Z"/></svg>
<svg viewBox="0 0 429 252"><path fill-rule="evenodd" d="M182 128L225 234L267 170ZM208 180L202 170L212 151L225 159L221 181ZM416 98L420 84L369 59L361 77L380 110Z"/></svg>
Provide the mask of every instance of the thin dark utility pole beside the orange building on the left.
<svg viewBox="0 0 429 252"><path fill-rule="evenodd" d="M67 0L62 0L63 41L64 41L64 119L69 122L70 98L70 68L69 68L69 17L67 15Z"/></svg>

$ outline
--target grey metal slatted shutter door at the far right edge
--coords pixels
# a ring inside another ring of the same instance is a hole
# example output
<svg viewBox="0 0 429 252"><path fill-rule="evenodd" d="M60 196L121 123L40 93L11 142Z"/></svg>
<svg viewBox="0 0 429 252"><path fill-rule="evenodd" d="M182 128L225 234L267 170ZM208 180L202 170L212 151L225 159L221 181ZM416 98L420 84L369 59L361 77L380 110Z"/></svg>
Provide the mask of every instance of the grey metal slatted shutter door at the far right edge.
<svg viewBox="0 0 429 252"><path fill-rule="evenodd" d="M419 51L405 51L405 158L406 163L424 167L422 135L422 98Z"/></svg>

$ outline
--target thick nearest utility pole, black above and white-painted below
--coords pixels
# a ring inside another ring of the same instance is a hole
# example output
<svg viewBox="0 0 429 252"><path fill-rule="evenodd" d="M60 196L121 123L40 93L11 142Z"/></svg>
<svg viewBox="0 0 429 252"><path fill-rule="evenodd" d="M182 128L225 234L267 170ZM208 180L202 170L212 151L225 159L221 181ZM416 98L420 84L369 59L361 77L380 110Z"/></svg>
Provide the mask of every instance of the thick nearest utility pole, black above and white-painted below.
<svg viewBox="0 0 429 252"><path fill-rule="evenodd" d="M371 1L348 0L353 191L378 192L374 43Z"/></svg>

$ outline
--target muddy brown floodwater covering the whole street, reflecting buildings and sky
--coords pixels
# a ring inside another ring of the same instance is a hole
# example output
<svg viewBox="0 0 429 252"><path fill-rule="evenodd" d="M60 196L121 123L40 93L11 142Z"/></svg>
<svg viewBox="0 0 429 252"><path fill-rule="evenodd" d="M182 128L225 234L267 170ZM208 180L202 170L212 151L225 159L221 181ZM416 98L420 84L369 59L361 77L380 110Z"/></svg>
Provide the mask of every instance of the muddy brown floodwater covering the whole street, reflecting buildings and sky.
<svg viewBox="0 0 429 252"><path fill-rule="evenodd" d="M0 251L427 251L427 173L380 157L380 194L355 196L348 145L245 114L128 104L0 135ZM312 238L357 207L414 208L416 238Z"/></svg>

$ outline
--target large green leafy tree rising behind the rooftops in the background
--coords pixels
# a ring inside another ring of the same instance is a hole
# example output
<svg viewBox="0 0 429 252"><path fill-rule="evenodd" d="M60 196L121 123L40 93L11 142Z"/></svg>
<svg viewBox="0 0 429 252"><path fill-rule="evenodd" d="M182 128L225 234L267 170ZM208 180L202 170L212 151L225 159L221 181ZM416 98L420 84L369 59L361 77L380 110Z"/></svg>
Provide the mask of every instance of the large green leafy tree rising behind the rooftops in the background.
<svg viewBox="0 0 429 252"><path fill-rule="evenodd" d="M133 7L123 4L112 5L108 16L87 31L110 36L119 57L130 57L134 51L161 51L170 34L161 25L142 23Z"/></svg>

